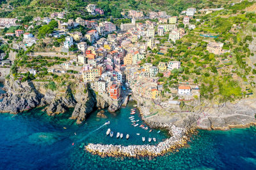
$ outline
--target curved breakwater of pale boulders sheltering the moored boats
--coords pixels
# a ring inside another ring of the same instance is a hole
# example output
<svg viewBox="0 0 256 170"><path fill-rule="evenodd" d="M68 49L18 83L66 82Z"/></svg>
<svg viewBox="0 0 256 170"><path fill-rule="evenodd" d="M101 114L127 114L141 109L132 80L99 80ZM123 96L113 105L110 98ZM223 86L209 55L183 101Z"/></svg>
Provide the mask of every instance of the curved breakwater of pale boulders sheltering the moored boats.
<svg viewBox="0 0 256 170"><path fill-rule="evenodd" d="M157 145L122 146L90 143L87 146L84 146L84 150L102 157L156 157L163 155L166 152L177 150L177 148L182 147L187 143L189 139L187 129L175 127L175 125L172 124L161 124L161 127L168 129L171 137Z"/></svg>

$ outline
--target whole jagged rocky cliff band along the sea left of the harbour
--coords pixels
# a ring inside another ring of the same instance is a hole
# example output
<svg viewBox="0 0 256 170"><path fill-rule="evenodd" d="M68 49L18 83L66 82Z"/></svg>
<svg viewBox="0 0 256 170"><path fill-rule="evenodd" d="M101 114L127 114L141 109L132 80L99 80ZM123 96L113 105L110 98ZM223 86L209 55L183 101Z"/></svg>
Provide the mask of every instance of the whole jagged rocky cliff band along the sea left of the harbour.
<svg viewBox="0 0 256 170"><path fill-rule="evenodd" d="M37 84L36 88L32 81L5 81L6 94L3 95L3 101L0 102L0 111L17 114L37 106L46 106L44 111L48 115L56 115L65 113L68 108L74 108L71 118L76 119L77 123L81 123L95 108L109 106L103 97L97 96L90 87L85 87L83 83L77 85L75 94L72 94L69 87L64 92L53 92L52 90L42 92L39 88L42 86L42 84Z"/></svg>

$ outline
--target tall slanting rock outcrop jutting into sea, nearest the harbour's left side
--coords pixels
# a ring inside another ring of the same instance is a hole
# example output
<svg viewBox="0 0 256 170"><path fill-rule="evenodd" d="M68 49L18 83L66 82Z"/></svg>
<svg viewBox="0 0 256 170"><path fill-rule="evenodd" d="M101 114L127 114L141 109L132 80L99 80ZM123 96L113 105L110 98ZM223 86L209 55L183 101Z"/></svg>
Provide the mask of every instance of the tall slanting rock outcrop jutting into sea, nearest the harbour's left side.
<svg viewBox="0 0 256 170"><path fill-rule="evenodd" d="M90 85L86 85L86 87L84 87L83 84L79 84L74 97L77 104L74 108L71 119L76 119L77 124L81 124L88 114L95 108L108 107L108 102L105 101L103 97L96 95L90 88Z"/></svg>

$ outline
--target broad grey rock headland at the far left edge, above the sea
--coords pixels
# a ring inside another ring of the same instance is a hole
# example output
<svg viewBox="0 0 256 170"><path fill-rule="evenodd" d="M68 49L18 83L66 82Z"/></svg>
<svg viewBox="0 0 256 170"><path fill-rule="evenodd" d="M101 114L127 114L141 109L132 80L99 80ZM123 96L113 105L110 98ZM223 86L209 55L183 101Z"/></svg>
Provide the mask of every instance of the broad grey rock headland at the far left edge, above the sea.
<svg viewBox="0 0 256 170"><path fill-rule="evenodd" d="M41 105L42 97L35 89L32 81L21 82L20 80L6 80L4 83L3 101L0 103L2 113L20 113Z"/></svg>

